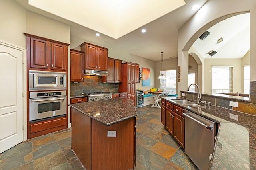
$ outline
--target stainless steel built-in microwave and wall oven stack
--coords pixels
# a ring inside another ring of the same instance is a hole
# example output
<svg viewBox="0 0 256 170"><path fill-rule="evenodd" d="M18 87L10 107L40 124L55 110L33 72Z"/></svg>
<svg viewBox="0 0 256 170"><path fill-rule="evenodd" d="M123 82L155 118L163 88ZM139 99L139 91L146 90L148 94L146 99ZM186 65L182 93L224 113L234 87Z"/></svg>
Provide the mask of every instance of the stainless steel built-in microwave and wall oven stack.
<svg viewBox="0 0 256 170"><path fill-rule="evenodd" d="M29 70L29 121L67 114L66 73Z"/></svg>

